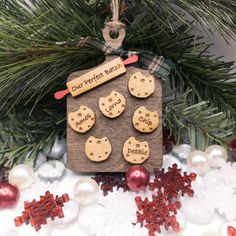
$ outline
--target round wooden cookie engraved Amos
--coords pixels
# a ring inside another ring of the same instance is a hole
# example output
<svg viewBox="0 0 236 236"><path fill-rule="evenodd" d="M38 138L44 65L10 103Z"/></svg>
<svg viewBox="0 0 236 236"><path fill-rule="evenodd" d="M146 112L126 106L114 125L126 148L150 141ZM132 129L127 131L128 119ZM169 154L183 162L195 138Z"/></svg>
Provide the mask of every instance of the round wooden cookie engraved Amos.
<svg viewBox="0 0 236 236"><path fill-rule="evenodd" d="M81 105L79 110L68 114L70 127L79 133L85 133L95 124L95 114L92 109Z"/></svg>

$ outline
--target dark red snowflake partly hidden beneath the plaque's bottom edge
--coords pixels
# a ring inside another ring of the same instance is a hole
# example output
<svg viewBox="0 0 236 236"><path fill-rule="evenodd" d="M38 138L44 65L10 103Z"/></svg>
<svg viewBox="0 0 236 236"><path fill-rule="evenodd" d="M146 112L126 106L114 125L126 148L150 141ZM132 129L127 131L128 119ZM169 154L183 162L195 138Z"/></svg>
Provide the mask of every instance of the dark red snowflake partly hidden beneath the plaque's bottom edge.
<svg viewBox="0 0 236 236"><path fill-rule="evenodd" d="M100 189L103 191L104 196L107 196L108 192L113 192L114 187L116 187L117 190L122 188L124 192L129 191L124 173L98 174L95 177L92 177L92 179L94 179L98 185L101 184Z"/></svg>

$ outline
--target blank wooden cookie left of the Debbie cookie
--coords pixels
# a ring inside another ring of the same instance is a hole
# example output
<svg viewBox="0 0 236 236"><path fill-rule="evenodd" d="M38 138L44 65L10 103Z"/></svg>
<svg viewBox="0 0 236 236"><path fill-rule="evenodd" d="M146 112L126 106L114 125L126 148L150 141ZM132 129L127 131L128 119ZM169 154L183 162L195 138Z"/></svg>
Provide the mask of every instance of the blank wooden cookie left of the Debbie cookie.
<svg viewBox="0 0 236 236"><path fill-rule="evenodd" d="M85 154L91 161L105 161L111 154L111 143L107 137L90 136L85 142Z"/></svg>

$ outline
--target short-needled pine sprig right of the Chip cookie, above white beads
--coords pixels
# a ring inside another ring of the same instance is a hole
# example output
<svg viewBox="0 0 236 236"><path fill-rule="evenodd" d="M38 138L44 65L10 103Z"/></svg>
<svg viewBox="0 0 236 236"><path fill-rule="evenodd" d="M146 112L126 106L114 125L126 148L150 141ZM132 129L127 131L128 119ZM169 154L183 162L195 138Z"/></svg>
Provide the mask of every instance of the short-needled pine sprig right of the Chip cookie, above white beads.
<svg viewBox="0 0 236 236"><path fill-rule="evenodd" d="M181 131L188 129L191 145L197 149L205 148L213 142L225 145L235 134L235 121L208 102L190 105L188 96L166 97L164 99L164 124L179 141Z"/></svg>

